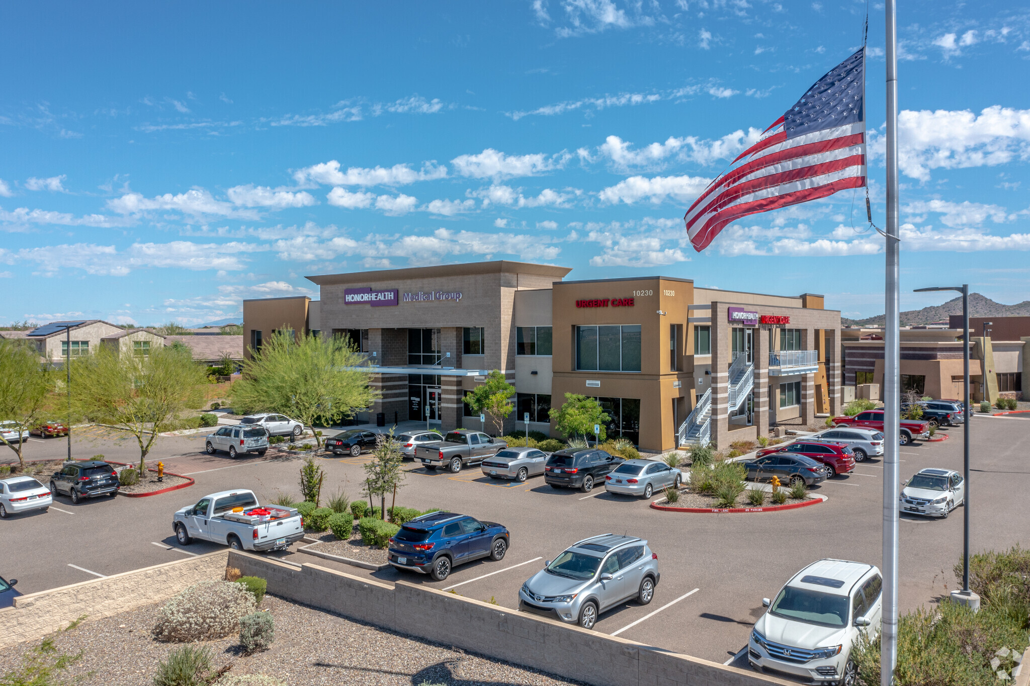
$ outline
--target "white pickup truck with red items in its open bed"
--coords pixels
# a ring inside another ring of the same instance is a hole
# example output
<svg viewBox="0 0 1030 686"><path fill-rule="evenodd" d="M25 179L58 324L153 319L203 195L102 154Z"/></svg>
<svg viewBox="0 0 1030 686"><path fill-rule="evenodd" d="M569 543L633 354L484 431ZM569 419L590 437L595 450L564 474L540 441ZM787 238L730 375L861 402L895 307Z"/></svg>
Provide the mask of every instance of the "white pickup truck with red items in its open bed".
<svg viewBox="0 0 1030 686"><path fill-rule="evenodd" d="M304 537L304 522L296 508L260 506L253 491L243 489L211 493L178 510L172 528L183 546L197 539L236 550L285 550Z"/></svg>

